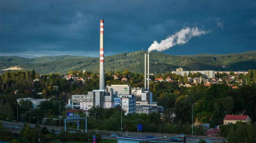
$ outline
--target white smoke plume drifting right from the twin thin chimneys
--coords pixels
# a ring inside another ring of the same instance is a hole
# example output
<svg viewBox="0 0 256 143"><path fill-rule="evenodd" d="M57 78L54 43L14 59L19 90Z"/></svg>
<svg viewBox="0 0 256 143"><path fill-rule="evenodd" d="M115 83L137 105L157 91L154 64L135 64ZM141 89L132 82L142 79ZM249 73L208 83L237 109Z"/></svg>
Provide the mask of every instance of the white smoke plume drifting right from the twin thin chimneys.
<svg viewBox="0 0 256 143"><path fill-rule="evenodd" d="M148 49L148 52L153 50L157 50L159 52L167 50L175 45L181 45L187 43L192 37L205 35L210 33L211 31L203 31L199 30L197 27L195 28L184 28L179 32L174 33L171 36L168 36L165 40L162 40L160 43L154 41Z"/></svg>

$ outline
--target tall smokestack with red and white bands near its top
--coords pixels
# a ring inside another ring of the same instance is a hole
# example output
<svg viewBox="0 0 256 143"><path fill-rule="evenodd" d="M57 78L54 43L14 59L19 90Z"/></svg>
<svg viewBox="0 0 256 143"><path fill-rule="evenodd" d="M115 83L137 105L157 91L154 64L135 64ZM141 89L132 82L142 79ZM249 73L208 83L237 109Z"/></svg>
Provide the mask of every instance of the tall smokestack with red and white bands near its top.
<svg viewBox="0 0 256 143"><path fill-rule="evenodd" d="M100 34L99 34L99 90L104 90L104 21L101 19L100 23Z"/></svg>

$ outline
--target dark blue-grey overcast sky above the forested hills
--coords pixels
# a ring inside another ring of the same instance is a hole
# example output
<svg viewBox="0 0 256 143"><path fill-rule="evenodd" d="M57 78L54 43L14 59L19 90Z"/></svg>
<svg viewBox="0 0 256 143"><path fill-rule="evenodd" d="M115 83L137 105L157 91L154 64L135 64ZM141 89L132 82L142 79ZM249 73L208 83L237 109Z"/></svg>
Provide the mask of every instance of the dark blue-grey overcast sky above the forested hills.
<svg viewBox="0 0 256 143"><path fill-rule="evenodd" d="M227 54L255 50L255 0L1 0L0 55L105 55L148 50L183 28L209 33L162 51Z"/></svg>

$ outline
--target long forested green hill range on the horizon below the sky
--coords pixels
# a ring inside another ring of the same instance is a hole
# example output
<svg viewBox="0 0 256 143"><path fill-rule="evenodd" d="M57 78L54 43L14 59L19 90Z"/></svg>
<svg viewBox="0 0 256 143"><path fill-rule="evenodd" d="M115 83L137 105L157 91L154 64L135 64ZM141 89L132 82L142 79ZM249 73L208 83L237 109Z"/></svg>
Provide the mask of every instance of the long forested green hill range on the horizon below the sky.
<svg viewBox="0 0 256 143"><path fill-rule="evenodd" d="M129 69L135 73L144 72L144 53L136 51L121 53L105 57L105 70L122 71ZM1 56L0 68L19 67L25 70L34 69L37 73L61 73L69 70L83 70L98 72L99 58L86 56L46 56L23 58L18 56ZM198 54L173 56L169 54L151 52L150 72L165 73L183 67L184 70L215 70L215 71L247 71L256 67L256 51L236 54ZM3 72L3 71L1 71Z"/></svg>

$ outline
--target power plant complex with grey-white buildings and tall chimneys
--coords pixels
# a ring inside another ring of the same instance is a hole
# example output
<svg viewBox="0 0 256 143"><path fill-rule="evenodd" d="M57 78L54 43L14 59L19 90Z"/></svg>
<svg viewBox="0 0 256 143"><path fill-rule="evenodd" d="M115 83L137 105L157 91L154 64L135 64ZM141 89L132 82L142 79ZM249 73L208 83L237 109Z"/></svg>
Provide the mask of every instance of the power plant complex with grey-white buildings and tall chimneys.
<svg viewBox="0 0 256 143"><path fill-rule="evenodd" d="M107 85L104 79L104 21L100 20L100 44L99 44L99 89L88 92L87 95L72 95L69 105L72 109L88 110L92 106L111 108L121 106L125 115L128 113L157 112L157 103L153 102L153 94L150 92L149 78L149 54L145 54L145 87L138 89L141 97L132 94L130 85ZM147 66L148 65L148 66ZM133 89L133 93L137 89Z"/></svg>

